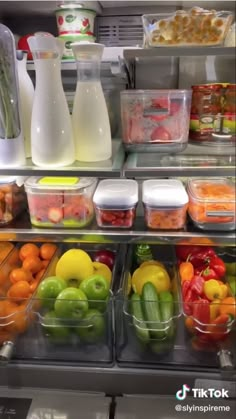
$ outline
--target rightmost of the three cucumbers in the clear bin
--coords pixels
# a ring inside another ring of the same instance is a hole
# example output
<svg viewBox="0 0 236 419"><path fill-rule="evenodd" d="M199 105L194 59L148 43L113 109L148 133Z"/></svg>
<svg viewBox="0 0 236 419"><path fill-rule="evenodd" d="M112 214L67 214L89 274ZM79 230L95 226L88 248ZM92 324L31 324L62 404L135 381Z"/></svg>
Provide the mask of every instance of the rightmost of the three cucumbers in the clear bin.
<svg viewBox="0 0 236 419"><path fill-rule="evenodd" d="M172 338L174 335L174 324L173 324L173 315L174 315L174 301L173 295L170 291L162 291L159 294L160 299L160 312L161 320L164 323L164 328L168 327L166 330L166 335L168 338Z"/></svg>

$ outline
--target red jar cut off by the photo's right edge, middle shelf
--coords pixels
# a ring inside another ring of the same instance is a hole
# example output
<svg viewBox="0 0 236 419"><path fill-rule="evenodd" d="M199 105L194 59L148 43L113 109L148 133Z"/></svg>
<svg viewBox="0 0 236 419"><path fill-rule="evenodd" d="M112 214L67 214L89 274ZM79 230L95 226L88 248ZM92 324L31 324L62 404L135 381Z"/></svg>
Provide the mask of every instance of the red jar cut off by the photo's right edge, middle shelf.
<svg viewBox="0 0 236 419"><path fill-rule="evenodd" d="M236 138L236 84L229 84L225 91L223 133Z"/></svg>

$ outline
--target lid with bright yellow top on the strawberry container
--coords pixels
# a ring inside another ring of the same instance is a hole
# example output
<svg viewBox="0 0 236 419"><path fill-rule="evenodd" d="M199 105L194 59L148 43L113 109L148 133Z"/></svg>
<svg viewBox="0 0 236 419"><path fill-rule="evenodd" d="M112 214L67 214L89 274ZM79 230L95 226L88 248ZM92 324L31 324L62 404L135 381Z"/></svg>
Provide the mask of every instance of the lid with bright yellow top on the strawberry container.
<svg viewBox="0 0 236 419"><path fill-rule="evenodd" d="M55 190L55 189L66 189L66 190L77 190L86 188L97 181L96 178L89 178L89 177L63 177L63 176L44 176L44 177L36 177L32 176L26 180L25 186L26 188L34 188L34 189L48 189L48 190Z"/></svg>

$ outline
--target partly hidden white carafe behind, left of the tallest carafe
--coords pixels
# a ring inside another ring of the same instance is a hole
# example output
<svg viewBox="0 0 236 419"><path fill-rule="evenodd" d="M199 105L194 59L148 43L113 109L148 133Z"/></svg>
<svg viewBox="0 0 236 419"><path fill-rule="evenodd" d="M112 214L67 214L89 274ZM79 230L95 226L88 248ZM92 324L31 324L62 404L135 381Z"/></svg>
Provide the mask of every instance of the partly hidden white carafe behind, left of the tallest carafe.
<svg viewBox="0 0 236 419"><path fill-rule="evenodd" d="M31 117L34 101L34 85L26 69L27 52L17 51L20 112L24 134L25 154L31 157Z"/></svg>

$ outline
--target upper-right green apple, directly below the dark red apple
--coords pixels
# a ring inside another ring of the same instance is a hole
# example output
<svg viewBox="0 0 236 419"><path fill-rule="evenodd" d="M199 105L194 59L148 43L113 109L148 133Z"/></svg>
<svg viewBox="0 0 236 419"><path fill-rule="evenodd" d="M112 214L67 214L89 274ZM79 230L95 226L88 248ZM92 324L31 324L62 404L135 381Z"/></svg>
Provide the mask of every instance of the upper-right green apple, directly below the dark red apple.
<svg viewBox="0 0 236 419"><path fill-rule="evenodd" d="M84 279L79 288L86 294L88 300L104 301L109 296L110 285L101 275L93 275Z"/></svg>

